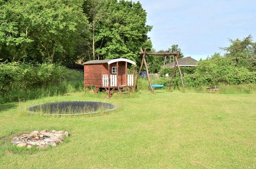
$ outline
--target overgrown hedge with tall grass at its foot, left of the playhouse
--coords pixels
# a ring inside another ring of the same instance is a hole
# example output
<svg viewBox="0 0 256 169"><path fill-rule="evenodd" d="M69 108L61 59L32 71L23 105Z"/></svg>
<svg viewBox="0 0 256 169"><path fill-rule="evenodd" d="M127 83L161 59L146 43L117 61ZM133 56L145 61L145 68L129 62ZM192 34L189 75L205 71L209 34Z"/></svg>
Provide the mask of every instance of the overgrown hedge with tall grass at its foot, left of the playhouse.
<svg viewBox="0 0 256 169"><path fill-rule="evenodd" d="M0 63L0 102L81 90L82 79L80 72L60 65Z"/></svg>

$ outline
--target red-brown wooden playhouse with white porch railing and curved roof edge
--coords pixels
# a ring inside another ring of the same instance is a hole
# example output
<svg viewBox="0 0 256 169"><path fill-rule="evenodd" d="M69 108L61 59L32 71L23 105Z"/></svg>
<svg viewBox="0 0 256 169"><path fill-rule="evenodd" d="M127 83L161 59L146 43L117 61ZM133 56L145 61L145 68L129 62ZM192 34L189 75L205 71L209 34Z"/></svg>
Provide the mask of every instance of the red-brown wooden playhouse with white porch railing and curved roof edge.
<svg viewBox="0 0 256 169"><path fill-rule="evenodd" d="M133 74L128 74L127 65L133 65ZM120 93L123 88L131 90L134 88L134 66L135 62L125 58L91 60L84 62L85 90L89 86L104 88L108 94L117 89Z"/></svg>

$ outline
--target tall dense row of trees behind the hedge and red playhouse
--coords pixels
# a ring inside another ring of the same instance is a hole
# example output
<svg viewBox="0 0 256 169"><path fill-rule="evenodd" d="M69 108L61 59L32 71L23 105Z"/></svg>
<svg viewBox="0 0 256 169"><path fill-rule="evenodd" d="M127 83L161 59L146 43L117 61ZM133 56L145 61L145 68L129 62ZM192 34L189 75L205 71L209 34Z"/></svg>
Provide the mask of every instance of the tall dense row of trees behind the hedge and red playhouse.
<svg viewBox="0 0 256 169"><path fill-rule="evenodd" d="M63 65L125 57L152 47L140 2L0 0L0 59Z"/></svg>

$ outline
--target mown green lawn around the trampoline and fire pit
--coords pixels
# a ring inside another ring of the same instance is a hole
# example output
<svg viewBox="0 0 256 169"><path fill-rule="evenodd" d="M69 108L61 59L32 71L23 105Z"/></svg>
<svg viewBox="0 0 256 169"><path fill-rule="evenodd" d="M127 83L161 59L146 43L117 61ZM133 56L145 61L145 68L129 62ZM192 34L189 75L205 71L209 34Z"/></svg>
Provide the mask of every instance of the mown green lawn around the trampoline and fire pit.
<svg viewBox="0 0 256 169"><path fill-rule="evenodd" d="M0 104L0 168L254 168L256 95L148 91L130 97L69 93ZM98 100L119 105L99 115L28 115L29 105ZM67 130L47 150L10 144L15 134Z"/></svg>

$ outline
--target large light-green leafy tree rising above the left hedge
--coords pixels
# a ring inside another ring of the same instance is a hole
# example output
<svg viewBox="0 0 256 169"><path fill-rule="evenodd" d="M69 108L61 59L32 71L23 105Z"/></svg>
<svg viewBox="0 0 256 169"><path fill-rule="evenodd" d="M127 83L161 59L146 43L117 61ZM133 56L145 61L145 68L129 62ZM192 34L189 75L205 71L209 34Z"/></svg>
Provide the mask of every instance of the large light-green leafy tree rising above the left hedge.
<svg viewBox="0 0 256 169"><path fill-rule="evenodd" d="M87 33L82 1L10 0L0 7L0 52L10 60L74 60L76 45Z"/></svg>

